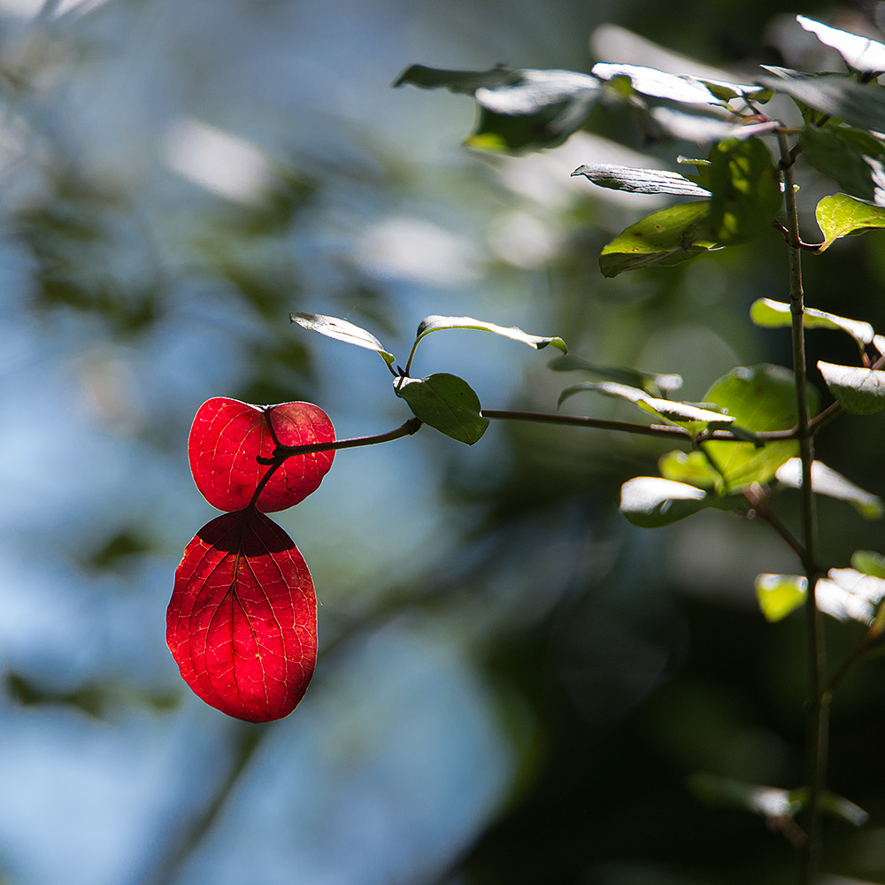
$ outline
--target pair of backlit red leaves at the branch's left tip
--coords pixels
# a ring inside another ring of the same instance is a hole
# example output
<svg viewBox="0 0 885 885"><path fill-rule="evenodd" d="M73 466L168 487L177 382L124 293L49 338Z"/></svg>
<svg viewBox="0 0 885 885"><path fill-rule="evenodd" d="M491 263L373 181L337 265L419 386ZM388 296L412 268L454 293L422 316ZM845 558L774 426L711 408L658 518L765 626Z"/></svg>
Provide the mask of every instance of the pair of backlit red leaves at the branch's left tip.
<svg viewBox="0 0 885 885"><path fill-rule="evenodd" d="M206 500L227 512L184 550L166 643L196 695L237 719L288 716L310 684L317 659L311 573L289 535L264 514L318 489L335 452L293 455L273 466L258 458L272 458L277 445L334 441L326 412L310 403L255 406L216 397L196 412L190 469Z"/></svg>

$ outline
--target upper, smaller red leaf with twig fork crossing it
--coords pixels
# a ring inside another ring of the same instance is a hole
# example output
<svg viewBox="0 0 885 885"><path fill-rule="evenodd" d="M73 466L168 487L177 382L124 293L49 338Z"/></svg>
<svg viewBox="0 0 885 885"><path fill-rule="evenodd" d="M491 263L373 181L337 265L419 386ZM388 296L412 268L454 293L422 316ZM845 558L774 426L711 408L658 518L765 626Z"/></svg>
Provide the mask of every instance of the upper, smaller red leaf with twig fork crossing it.
<svg viewBox="0 0 885 885"><path fill-rule="evenodd" d="M311 445L335 441L335 427L326 412L312 403L250 405L216 396L196 412L188 453L196 488L219 510L242 510L250 504L258 482L272 469L256 458L270 458L275 443ZM334 451L294 455L273 473L258 496L258 510L271 513L303 501L319 488L332 466Z"/></svg>

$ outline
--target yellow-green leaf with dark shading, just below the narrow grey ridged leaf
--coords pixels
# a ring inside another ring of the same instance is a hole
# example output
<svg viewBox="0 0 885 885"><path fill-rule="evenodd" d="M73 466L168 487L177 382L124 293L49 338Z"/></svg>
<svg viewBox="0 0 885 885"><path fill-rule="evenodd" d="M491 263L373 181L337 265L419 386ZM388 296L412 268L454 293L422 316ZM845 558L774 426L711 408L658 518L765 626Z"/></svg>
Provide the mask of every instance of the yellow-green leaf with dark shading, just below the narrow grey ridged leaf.
<svg viewBox="0 0 885 885"><path fill-rule="evenodd" d="M599 268L613 277L639 267L675 265L716 245L709 201L683 203L627 227L604 247Z"/></svg>

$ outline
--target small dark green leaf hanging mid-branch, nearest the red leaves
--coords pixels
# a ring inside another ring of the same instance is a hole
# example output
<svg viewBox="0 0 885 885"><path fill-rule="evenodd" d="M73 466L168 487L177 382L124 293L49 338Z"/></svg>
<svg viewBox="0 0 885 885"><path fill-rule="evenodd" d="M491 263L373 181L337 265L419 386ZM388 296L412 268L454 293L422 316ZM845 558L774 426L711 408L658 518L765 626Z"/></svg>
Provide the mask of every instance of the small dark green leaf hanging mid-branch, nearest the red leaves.
<svg viewBox="0 0 885 885"><path fill-rule="evenodd" d="M473 445L489 427L480 412L479 397L457 375L436 373L427 378L397 378L396 396L401 396L415 417L459 443Z"/></svg>

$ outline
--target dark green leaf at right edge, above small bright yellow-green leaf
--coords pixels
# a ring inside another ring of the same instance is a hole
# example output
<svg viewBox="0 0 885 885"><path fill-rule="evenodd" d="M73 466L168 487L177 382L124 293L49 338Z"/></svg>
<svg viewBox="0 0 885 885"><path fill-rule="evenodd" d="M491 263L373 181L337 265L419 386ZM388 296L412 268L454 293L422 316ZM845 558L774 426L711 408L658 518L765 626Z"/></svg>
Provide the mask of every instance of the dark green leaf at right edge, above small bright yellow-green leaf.
<svg viewBox="0 0 885 885"><path fill-rule="evenodd" d="M881 190L878 164L885 159L885 144L872 133L828 123L806 124L799 136L804 158L839 183L852 196L876 202Z"/></svg>

